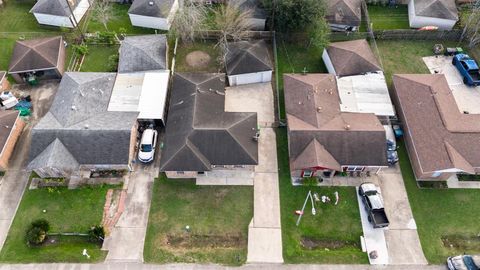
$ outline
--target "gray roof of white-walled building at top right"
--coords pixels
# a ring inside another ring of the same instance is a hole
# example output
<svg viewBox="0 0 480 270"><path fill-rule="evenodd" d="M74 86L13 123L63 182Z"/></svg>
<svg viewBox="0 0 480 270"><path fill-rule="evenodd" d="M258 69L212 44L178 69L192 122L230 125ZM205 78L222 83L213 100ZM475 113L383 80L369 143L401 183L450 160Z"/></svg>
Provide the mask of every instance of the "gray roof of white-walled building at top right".
<svg viewBox="0 0 480 270"><path fill-rule="evenodd" d="M458 20L455 0L415 0L414 5L417 16Z"/></svg>

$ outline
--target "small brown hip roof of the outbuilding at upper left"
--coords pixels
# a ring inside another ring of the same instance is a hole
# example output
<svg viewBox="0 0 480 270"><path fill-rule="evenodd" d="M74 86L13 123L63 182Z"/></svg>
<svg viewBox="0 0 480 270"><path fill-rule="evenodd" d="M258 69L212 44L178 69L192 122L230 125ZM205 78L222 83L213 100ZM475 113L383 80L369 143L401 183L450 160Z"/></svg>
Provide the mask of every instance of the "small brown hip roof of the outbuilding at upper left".
<svg viewBox="0 0 480 270"><path fill-rule="evenodd" d="M19 40L13 49L9 73L58 68L63 45L61 36Z"/></svg>

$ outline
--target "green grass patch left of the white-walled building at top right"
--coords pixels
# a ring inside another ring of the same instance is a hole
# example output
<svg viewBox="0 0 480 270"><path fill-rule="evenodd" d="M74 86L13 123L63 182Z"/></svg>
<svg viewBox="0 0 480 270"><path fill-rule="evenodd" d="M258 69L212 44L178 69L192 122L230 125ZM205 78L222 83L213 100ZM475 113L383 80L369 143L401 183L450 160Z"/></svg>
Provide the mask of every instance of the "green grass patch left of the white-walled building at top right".
<svg viewBox="0 0 480 270"><path fill-rule="evenodd" d="M373 30L410 29L407 5L394 7L369 5L368 15Z"/></svg>

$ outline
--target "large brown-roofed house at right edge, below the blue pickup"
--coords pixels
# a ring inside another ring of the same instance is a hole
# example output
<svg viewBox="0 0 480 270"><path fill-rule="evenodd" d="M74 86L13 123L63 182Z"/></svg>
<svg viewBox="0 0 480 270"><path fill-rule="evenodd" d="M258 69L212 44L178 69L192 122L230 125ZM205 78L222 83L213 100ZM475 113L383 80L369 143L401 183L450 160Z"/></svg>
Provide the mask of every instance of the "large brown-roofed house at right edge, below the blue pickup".
<svg viewBox="0 0 480 270"><path fill-rule="evenodd" d="M480 173L480 115L459 110L445 76L394 75L393 86L416 179Z"/></svg>

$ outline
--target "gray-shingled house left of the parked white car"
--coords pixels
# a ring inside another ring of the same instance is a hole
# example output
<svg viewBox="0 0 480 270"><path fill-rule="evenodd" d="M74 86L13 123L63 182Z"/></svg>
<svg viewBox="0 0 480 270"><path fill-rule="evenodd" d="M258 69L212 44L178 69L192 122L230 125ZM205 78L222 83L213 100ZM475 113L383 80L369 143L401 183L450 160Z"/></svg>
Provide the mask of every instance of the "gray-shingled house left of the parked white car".
<svg viewBox="0 0 480 270"><path fill-rule="evenodd" d="M29 169L43 178L130 168L138 113L107 110L115 76L65 73L50 110L32 129Z"/></svg>

